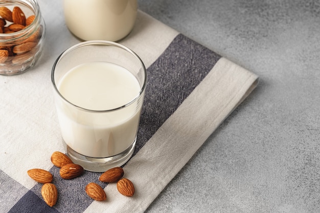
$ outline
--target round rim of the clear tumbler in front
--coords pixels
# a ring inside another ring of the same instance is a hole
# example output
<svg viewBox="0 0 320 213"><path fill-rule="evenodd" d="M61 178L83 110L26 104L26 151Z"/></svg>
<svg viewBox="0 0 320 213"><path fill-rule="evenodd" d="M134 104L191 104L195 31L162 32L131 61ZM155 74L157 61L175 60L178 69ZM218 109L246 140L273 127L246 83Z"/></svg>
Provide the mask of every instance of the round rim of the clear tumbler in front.
<svg viewBox="0 0 320 213"><path fill-rule="evenodd" d="M75 105L73 104L72 102L68 101L67 99L65 99L62 94L60 93L59 89L57 88L57 85L56 85L56 81L55 81L55 68L57 66L57 64L59 63L60 59L70 53L72 50L75 50L77 48L80 48L81 46L87 46L87 45L92 45L92 44L102 44L102 45L109 45L109 46L116 46L117 48L121 48L125 51L127 51L128 53L130 53L131 55L133 55L136 59L138 59L140 65L141 65L141 68L143 68L143 73L144 73L144 81L143 81L143 85L140 89L140 91L138 92L138 94L131 100L129 101L128 103L126 103L125 105L122 105L120 107L116 107L116 108L113 108L113 109L106 109L106 110L92 110L92 109L86 109L84 107L81 107L81 106L78 106L78 105ZM113 41L106 41L106 40L90 40L90 41L83 41L83 42L80 42L80 43L77 43L73 46L71 46L70 48L66 49L65 51L63 51L59 56L58 58L55 60L54 64L53 64L53 67L52 67L52 70L51 70L51 82L53 84L53 87L54 87L54 90L58 93L59 97L61 97L64 101L66 101L68 104L71 104L72 106L78 108L78 109L81 109L83 111L87 111L87 112L112 112L112 111L117 111L119 109L122 109L122 108L125 108L129 105L131 105L133 102L135 102L137 99L139 99L142 94L144 93L145 91L145 88L147 86L147 71L146 71L146 67L143 63L143 61L141 60L141 58L135 53L133 52L131 49L127 48L127 46L125 45L122 45L120 43L117 43L117 42L113 42Z"/></svg>

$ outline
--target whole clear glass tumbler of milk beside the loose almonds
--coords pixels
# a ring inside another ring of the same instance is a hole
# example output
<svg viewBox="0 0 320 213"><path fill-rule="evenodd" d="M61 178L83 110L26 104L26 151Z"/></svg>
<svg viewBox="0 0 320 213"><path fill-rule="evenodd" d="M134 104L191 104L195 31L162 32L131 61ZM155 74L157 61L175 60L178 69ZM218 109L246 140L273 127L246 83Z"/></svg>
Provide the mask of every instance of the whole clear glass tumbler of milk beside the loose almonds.
<svg viewBox="0 0 320 213"><path fill-rule="evenodd" d="M74 163L104 172L134 151L146 89L146 69L133 51L84 41L55 61L51 80L62 143Z"/></svg>

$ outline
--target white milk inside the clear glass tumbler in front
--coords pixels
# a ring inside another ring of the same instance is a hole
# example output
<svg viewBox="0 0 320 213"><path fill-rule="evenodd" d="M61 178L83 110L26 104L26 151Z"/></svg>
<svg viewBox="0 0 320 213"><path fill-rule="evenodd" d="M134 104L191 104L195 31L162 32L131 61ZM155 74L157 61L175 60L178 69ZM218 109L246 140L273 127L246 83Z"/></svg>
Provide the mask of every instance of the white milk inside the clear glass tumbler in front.
<svg viewBox="0 0 320 213"><path fill-rule="evenodd" d="M134 100L141 86L125 68L107 62L90 62L68 71L58 89L72 104L105 111ZM66 145L89 157L109 157L126 150L135 140L140 109L135 102L108 112L90 112L62 102L57 107Z"/></svg>

